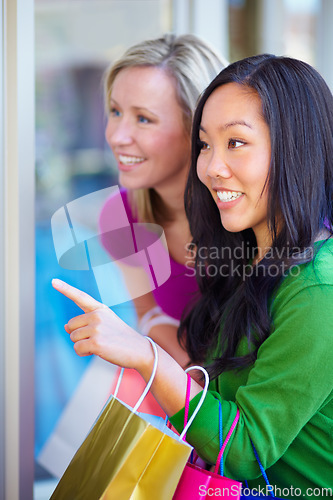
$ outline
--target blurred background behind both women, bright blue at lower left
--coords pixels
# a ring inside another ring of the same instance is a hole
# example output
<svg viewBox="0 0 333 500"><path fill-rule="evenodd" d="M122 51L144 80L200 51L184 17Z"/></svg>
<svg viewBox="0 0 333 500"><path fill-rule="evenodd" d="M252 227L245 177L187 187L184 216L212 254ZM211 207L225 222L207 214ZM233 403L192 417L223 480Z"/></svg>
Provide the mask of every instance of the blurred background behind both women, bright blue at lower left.
<svg viewBox="0 0 333 500"><path fill-rule="evenodd" d="M99 299L90 271L62 269L51 217L66 203L117 184L104 138L101 79L130 45L165 32L195 33L230 62L271 52L315 66L333 87L331 0L35 0L35 488L56 478L39 453L91 360L75 355L63 325L79 314L52 290L60 277ZM89 224L93 207L86 207ZM92 216L91 216L92 218ZM91 221L93 223L93 221ZM130 303L114 308L130 324Z"/></svg>

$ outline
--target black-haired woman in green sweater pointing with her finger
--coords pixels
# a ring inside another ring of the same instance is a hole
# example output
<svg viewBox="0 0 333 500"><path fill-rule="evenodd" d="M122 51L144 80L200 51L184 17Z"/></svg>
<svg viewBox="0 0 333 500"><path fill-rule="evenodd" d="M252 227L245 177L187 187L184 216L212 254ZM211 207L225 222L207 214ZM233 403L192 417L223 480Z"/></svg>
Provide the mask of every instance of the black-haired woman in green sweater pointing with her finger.
<svg viewBox="0 0 333 500"><path fill-rule="evenodd" d="M186 211L202 296L179 330L212 381L187 434L225 475L264 487L254 444L279 497L329 496L333 487L333 98L308 64L261 55L224 69L194 117ZM70 333L79 355L136 368L149 342L69 285L55 288L86 314ZM159 348L152 387L180 430L186 374ZM190 412L200 384L193 381Z"/></svg>

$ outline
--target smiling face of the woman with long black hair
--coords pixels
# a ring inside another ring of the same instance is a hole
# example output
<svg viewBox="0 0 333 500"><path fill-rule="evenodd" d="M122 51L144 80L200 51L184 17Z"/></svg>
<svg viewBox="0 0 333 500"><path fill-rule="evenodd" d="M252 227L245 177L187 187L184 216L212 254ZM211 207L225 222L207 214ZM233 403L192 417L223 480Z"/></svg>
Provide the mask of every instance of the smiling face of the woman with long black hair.
<svg viewBox="0 0 333 500"><path fill-rule="evenodd" d="M207 99L199 132L198 177L209 189L227 231L252 228L258 247L270 245L267 180L271 141L258 94L237 83Z"/></svg>

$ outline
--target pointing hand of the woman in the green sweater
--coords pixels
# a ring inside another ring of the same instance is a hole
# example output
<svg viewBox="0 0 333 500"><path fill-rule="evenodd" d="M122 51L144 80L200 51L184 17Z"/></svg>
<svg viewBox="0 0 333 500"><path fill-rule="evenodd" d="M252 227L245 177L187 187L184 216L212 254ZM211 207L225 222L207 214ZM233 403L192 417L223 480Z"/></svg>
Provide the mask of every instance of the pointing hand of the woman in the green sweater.
<svg viewBox="0 0 333 500"><path fill-rule="evenodd" d="M135 368L139 372L151 371L153 352L150 343L142 335L87 293L58 279L52 280L52 286L85 313L72 318L65 325L79 356L96 354L125 368Z"/></svg>

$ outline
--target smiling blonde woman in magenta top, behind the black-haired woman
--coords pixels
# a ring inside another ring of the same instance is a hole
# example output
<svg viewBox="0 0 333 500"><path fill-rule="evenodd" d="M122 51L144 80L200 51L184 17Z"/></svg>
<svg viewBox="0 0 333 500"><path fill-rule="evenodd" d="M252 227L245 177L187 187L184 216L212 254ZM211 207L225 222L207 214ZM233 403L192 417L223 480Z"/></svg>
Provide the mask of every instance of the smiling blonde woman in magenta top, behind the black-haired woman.
<svg viewBox="0 0 333 500"><path fill-rule="evenodd" d="M167 34L129 48L104 79L105 137L117 162L129 222L162 226L170 254L170 278L134 299L139 329L182 366L188 356L178 343L177 326L198 291L186 266L191 235L184 210L192 115L201 92L225 65L198 37ZM111 197L100 217L102 243L110 254L114 248L107 228L116 204Z"/></svg>

